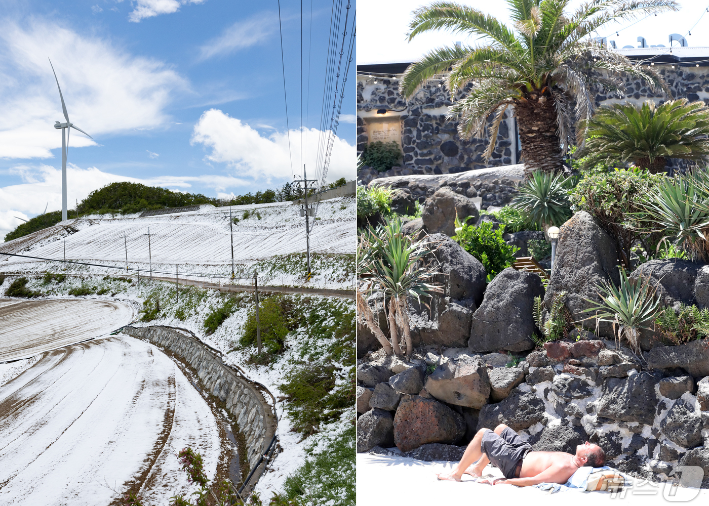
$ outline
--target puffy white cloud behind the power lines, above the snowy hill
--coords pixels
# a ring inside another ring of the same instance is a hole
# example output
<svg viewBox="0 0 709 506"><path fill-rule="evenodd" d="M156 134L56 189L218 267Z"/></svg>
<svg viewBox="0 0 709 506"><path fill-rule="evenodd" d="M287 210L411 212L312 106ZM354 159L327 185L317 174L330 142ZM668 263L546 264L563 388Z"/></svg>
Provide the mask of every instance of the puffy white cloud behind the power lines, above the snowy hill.
<svg viewBox="0 0 709 506"><path fill-rule="evenodd" d="M218 109L210 109L202 114L194 126L190 142L209 148L211 152L206 155L206 159L228 164L236 176L269 182L272 178L291 179L291 160L296 174L301 174L303 163L312 171L308 177L316 174L316 146L320 132L316 128L303 128L305 157L302 160L300 135L300 131L291 130L291 158L286 132L274 132L264 137L238 118L230 118ZM348 181L354 179L355 158L355 147L335 137L328 181L343 176Z"/></svg>

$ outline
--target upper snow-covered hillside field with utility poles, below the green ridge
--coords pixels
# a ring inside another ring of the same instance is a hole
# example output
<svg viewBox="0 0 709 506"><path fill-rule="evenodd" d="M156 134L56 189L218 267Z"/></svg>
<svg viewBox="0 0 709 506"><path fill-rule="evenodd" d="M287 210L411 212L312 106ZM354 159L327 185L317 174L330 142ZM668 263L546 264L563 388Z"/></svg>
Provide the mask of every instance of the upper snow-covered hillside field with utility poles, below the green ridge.
<svg viewBox="0 0 709 506"><path fill-rule="evenodd" d="M354 254L356 247L354 197L323 201L318 216L311 218L310 247L315 276L307 283L306 226L300 206L255 204L233 206L231 211L238 219L233 224L237 276L251 279L257 270L262 284L340 289L354 286L353 269L347 269L339 258L342 254ZM123 268L127 264L129 269L140 269L143 274L149 271L152 257L152 270L168 276L174 276L177 266L183 277L203 274L221 276L225 281L231 275L231 251L229 208L209 205L196 212L147 218L138 218L137 214L91 215L0 244L0 252L57 260L66 255L67 260ZM60 267L55 262L0 254L0 271L56 271ZM115 269L88 266L70 266L68 272L89 271L118 274ZM135 274L135 270L130 274ZM248 284L243 279L235 282Z"/></svg>

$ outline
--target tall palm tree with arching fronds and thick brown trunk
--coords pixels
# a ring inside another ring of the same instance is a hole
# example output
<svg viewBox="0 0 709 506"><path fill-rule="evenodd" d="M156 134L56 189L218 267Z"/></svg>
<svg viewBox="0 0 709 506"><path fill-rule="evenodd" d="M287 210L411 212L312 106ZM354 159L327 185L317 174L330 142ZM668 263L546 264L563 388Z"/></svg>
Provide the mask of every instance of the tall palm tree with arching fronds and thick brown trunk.
<svg viewBox="0 0 709 506"><path fill-rule="evenodd" d="M508 0L516 32L493 16L468 6L435 2L414 11L408 40L429 30L479 35L485 45L441 47L406 69L400 91L413 96L428 79L447 74L451 91L473 84L450 107L459 134L491 139L494 149L507 108L517 117L525 172L558 171L569 147L575 120L593 112L591 89L623 96L628 77L647 81L652 91L664 80L648 66L633 65L623 55L593 43L592 33L609 21L623 21L661 11L676 11L674 0L591 0L575 13L564 9L569 0ZM572 103L576 103L572 112ZM584 131L576 130L581 144Z"/></svg>

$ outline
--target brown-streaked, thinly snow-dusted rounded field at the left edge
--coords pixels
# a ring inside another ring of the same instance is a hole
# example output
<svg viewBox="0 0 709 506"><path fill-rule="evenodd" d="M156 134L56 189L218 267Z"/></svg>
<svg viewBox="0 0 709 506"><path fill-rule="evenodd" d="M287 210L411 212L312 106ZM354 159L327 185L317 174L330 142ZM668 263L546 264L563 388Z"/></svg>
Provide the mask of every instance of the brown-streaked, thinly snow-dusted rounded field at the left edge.
<svg viewBox="0 0 709 506"><path fill-rule="evenodd" d="M110 334L136 313L116 300L0 299L0 362Z"/></svg>

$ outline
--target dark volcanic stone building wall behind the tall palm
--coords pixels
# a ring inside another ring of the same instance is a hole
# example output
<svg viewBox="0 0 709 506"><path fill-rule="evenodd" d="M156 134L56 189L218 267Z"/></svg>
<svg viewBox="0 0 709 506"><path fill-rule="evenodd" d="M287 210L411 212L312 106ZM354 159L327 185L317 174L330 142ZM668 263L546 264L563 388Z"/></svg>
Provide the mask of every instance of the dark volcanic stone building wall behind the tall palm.
<svg viewBox="0 0 709 506"><path fill-rule="evenodd" d="M709 103L709 67L678 66L672 69L670 65L657 64L654 69L666 80L673 99L686 97L689 101L703 100ZM447 108L467 93L468 89L458 92L452 99L445 83L434 79L407 101L398 93L399 83L398 76L394 75L390 79L362 75L357 77L357 152L367 147L367 122L377 116L381 117L376 113L380 108L388 110L384 116L391 116L391 120L401 122L403 150L403 167L395 167L381 175L374 172L370 174L367 169L366 174L358 174L359 184L367 184L375 177L454 174L518 162L516 124L511 110L508 110L501 124L495 152L486 163L483 153L489 140L463 139L457 133L457 122L446 120ZM640 79L630 77L626 78L625 96L621 99L600 91L592 93L595 94L597 108L611 103L642 104L647 99L657 99L659 102L664 100L661 93L653 93ZM686 167L686 162L669 159L667 167L681 169Z"/></svg>

